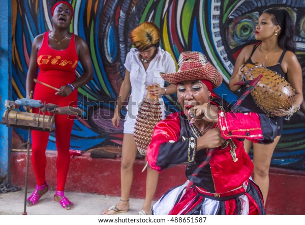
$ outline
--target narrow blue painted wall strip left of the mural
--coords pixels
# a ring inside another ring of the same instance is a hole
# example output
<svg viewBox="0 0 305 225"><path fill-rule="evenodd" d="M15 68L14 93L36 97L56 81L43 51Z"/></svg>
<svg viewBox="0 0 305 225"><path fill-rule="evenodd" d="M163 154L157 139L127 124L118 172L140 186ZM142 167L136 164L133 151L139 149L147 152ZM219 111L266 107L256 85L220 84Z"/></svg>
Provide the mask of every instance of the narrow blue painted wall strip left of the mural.
<svg viewBox="0 0 305 225"><path fill-rule="evenodd" d="M11 99L11 2L1 1L0 7L0 115L5 111L5 100ZM0 179L6 178L11 151L11 129L0 125Z"/></svg>

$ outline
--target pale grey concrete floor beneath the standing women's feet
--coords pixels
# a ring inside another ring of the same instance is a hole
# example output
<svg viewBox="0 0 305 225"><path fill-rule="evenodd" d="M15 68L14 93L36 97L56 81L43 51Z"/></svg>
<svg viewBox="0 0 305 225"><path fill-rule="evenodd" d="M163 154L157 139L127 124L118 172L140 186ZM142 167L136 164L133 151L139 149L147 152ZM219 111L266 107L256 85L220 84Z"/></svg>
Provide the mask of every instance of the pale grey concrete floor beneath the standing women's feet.
<svg viewBox="0 0 305 225"><path fill-rule="evenodd" d="M27 197L34 189L29 189ZM67 198L74 203L72 210L65 210L53 201L54 191L49 191L33 207L26 207L28 215L99 215L103 210L115 205L120 198L99 194L65 192ZM130 199L130 210L120 215L137 215L141 210L143 199ZM0 192L0 215L22 215L24 212L24 191ZM0 219L1 220L1 219Z"/></svg>

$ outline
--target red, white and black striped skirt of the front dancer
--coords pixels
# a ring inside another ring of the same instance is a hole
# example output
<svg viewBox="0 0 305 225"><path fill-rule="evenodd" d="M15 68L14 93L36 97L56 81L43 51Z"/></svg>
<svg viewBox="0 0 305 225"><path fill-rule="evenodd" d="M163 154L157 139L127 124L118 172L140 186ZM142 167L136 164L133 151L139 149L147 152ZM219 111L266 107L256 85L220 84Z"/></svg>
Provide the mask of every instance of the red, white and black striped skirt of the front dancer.
<svg viewBox="0 0 305 225"><path fill-rule="evenodd" d="M266 214L259 187L250 180L245 193L218 198L199 193L190 181L167 191L153 206L154 215L256 215Z"/></svg>

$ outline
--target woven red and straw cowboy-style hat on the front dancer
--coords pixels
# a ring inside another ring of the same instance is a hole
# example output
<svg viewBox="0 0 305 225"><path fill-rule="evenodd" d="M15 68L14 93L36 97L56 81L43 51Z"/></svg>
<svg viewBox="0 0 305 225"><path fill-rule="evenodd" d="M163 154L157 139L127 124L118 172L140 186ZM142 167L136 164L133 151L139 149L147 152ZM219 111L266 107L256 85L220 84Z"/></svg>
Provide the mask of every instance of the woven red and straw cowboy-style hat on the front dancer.
<svg viewBox="0 0 305 225"><path fill-rule="evenodd" d="M223 80L219 71L207 61L203 53L198 51L182 52L178 59L178 67L179 69L175 73L160 73L161 77L174 84L186 80L201 80L202 82L206 80L211 82L211 88L219 87Z"/></svg>

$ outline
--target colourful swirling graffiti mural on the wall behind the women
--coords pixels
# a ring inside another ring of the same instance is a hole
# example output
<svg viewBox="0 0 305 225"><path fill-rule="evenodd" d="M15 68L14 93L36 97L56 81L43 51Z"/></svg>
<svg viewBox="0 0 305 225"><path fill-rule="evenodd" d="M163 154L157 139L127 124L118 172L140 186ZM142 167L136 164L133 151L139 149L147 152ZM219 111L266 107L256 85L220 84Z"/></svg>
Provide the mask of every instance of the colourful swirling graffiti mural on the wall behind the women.
<svg viewBox="0 0 305 225"><path fill-rule="evenodd" d="M56 1L12 0L12 86L13 98L25 95L25 76L33 39L51 30L51 8ZM89 150L120 146L120 129L110 119L121 82L126 54L132 47L129 32L143 21L154 21L162 33L161 47L175 60L182 51L203 52L223 74L222 86L215 90L226 102L234 104L236 93L228 80L241 48L254 43L255 24L260 13L270 7L285 7L296 30L297 56L305 75L305 2L304 1L220 1L220 0L72 0L74 17L71 32L88 43L94 79L79 88L79 106L84 109L75 121L71 149ZM82 68L78 66L77 76ZM168 111L179 110L175 95L164 98ZM126 109L123 108L123 114ZM305 116L298 112L284 122L284 132L272 166L305 171ZM27 138L27 132L14 130L14 142ZM48 149L55 150L54 134Z"/></svg>

